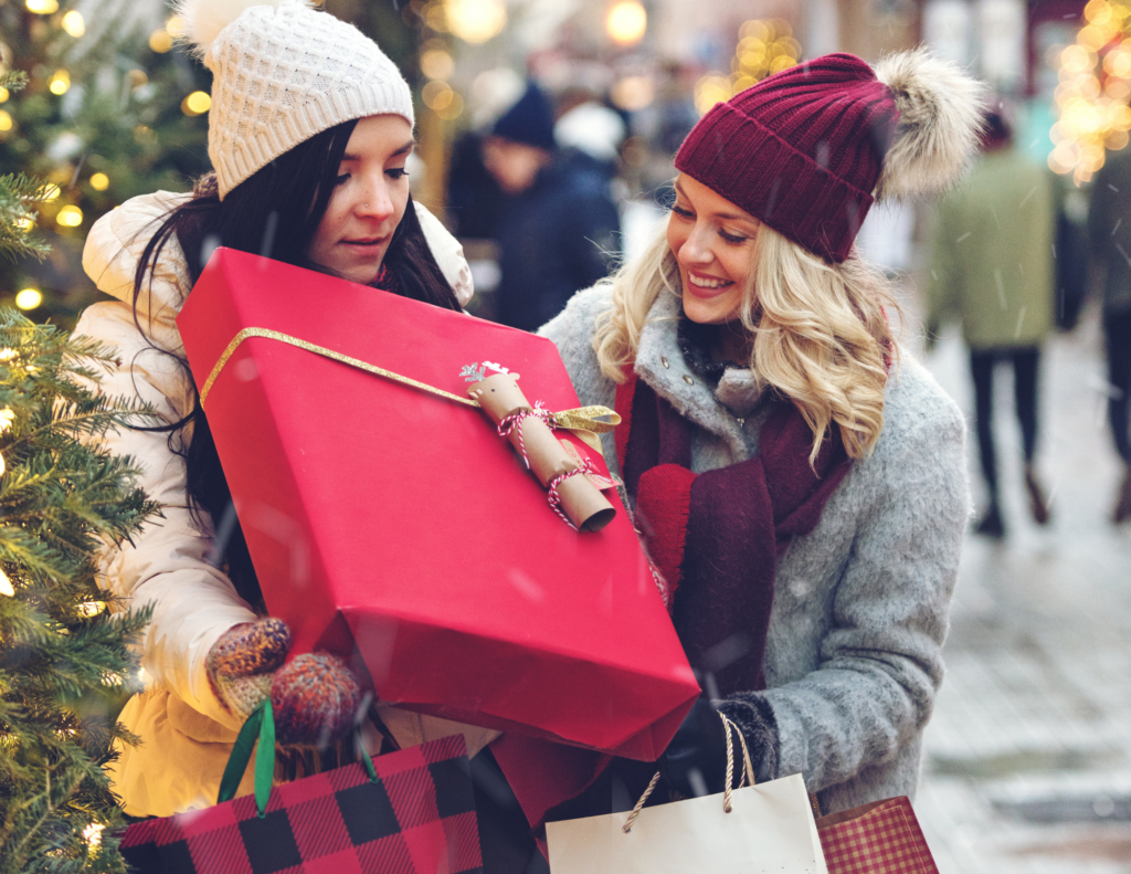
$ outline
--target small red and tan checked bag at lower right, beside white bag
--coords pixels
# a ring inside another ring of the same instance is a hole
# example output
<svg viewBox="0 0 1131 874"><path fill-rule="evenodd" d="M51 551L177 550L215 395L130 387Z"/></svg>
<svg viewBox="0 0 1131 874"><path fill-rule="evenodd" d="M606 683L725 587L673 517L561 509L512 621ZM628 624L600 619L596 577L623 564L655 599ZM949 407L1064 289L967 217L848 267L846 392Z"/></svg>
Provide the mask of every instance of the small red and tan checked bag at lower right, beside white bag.
<svg viewBox="0 0 1131 874"><path fill-rule="evenodd" d="M939 874L906 796L817 821L829 874Z"/></svg>

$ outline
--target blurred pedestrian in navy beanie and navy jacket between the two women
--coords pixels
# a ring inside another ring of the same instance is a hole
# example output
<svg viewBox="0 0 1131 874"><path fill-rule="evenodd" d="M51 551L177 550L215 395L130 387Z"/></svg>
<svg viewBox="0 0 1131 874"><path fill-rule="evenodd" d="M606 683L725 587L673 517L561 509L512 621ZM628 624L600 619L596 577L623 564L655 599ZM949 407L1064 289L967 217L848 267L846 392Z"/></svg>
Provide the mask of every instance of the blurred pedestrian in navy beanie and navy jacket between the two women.
<svg viewBox="0 0 1131 874"><path fill-rule="evenodd" d="M553 105L534 83L495 122L483 160L507 194L495 228L495 317L534 331L603 279L620 250L608 175L584 152L558 148Z"/></svg>

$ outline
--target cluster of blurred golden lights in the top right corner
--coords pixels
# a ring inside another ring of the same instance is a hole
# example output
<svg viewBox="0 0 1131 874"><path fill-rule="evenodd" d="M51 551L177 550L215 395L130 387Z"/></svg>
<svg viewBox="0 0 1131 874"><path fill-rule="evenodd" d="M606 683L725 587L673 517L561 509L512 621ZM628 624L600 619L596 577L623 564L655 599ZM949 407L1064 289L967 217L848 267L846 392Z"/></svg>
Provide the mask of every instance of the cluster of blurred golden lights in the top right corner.
<svg viewBox="0 0 1131 874"><path fill-rule="evenodd" d="M1060 118L1050 130L1048 166L1077 185L1104 165L1107 151L1128 145L1131 131L1131 9L1091 0L1076 43L1055 58Z"/></svg>

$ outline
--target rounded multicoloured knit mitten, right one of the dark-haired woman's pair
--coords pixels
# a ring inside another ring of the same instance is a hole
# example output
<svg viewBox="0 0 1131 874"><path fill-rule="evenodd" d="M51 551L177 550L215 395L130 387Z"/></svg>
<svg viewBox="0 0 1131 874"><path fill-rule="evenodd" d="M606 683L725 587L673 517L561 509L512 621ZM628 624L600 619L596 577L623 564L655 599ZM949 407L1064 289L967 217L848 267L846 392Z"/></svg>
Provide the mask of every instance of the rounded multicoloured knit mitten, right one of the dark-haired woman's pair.
<svg viewBox="0 0 1131 874"><path fill-rule="evenodd" d="M354 723L361 691L353 674L325 652L296 656L271 683L275 737L284 746L325 747Z"/></svg>

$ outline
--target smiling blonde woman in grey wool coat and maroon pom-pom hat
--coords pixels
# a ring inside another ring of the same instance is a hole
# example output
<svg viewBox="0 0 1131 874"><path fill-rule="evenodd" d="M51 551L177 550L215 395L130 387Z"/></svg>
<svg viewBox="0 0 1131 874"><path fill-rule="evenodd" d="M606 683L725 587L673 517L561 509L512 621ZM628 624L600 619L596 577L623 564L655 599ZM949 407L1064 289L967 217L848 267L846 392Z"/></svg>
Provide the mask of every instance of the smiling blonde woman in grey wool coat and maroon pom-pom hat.
<svg viewBox="0 0 1131 874"><path fill-rule="evenodd" d="M853 241L873 198L960 174L978 95L922 50L769 77L688 136L648 249L542 328L582 403L624 419L606 456L703 687L661 760L671 790L722 790L719 710L760 779L800 772L827 812L914 794L965 428L900 353L888 283ZM610 769L587 812L647 777Z"/></svg>

